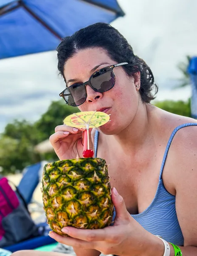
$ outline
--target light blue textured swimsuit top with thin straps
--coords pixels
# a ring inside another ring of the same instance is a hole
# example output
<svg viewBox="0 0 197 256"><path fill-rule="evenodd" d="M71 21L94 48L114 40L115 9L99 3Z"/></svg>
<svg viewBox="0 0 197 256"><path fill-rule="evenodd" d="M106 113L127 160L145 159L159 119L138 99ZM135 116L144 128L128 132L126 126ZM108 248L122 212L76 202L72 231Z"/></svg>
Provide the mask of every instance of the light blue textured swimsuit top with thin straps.
<svg viewBox="0 0 197 256"><path fill-rule="evenodd" d="M163 161L161 164L158 188L155 194L155 198L152 203L143 212L139 214L132 214L131 216L138 221L144 229L152 233L153 235L158 235L163 237L166 241L173 244L182 246L184 239L183 234L180 229L180 225L177 219L176 207L175 207L175 196L171 195L163 185L162 173L166 162L166 157L169 151L169 147L172 143L172 139L176 132L186 126L197 125L197 123L186 123L179 125L172 132L166 150L163 156ZM96 131L94 137L94 149L95 157L97 155L98 148L98 134ZM113 219L115 218L115 211Z"/></svg>

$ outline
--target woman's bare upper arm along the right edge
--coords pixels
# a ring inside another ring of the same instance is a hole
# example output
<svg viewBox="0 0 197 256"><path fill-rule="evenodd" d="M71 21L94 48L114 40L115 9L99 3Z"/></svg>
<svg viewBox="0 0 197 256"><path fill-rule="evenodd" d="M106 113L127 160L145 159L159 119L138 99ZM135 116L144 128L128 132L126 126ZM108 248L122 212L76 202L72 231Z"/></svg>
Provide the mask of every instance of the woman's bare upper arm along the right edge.
<svg viewBox="0 0 197 256"><path fill-rule="evenodd" d="M197 255L197 126L181 129L169 152L176 212L184 237L183 256ZM164 171L165 172L165 171ZM171 247L171 251L174 252ZM174 256L171 253L170 256Z"/></svg>

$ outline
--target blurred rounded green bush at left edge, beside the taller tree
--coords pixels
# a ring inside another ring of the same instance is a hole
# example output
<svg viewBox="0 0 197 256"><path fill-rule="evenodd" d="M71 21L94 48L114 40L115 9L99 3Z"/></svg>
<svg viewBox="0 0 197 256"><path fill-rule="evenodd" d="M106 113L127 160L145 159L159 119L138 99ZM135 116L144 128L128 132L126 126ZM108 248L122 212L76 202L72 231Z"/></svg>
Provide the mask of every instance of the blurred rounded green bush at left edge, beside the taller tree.
<svg viewBox="0 0 197 256"><path fill-rule="evenodd" d="M14 120L6 125L0 138L0 166L3 172L14 173L38 162L40 155L34 151L34 146L40 141L42 134L26 120Z"/></svg>

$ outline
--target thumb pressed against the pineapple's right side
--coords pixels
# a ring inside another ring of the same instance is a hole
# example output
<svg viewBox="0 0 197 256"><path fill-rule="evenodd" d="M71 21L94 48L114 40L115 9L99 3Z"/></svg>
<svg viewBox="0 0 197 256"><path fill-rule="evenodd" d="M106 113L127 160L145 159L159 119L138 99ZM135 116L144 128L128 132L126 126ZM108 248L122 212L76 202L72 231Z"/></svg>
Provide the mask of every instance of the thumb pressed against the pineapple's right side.
<svg viewBox="0 0 197 256"><path fill-rule="evenodd" d="M112 201L115 207L116 218L128 218L129 212L127 211L124 199L118 194L118 191L115 188L112 189Z"/></svg>

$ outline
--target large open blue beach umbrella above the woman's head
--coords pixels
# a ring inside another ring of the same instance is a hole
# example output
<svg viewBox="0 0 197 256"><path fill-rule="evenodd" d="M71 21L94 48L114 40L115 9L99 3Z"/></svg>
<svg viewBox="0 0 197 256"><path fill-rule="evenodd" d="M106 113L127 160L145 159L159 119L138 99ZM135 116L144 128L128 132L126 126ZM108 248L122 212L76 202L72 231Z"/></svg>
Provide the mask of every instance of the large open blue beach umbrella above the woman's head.
<svg viewBox="0 0 197 256"><path fill-rule="evenodd" d="M0 0L0 59L54 50L61 38L120 16L116 0Z"/></svg>

